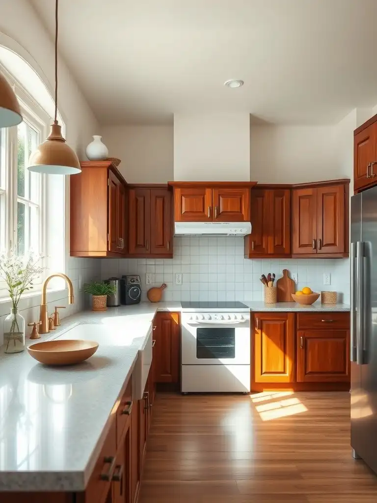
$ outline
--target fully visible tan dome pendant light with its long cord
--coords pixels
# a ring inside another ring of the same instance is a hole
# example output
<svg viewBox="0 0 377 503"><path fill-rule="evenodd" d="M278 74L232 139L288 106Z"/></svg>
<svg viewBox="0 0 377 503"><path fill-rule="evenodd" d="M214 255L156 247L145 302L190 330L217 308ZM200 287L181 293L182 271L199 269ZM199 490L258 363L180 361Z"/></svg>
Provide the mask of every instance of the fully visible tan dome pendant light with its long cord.
<svg viewBox="0 0 377 503"><path fill-rule="evenodd" d="M58 0L55 0L55 120L50 135L29 158L29 171L49 175L75 175L81 172L76 153L65 143L58 113Z"/></svg>

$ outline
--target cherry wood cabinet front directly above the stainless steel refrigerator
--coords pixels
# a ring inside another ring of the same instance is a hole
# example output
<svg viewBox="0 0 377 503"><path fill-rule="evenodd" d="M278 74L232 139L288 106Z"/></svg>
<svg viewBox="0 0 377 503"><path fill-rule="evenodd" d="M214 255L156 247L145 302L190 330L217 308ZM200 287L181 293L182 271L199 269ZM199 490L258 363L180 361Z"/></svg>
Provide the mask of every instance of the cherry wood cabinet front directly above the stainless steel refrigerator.
<svg viewBox="0 0 377 503"><path fill-rule="evenodd" d="M375 180L375 177L369 178L371 171L368 164L376 161L376 146L377 140L376 124L371 124L363 131L354 136L353 139L353 188L361 189L368 186ZM374 180L373 180L374 179Z"/></svg>

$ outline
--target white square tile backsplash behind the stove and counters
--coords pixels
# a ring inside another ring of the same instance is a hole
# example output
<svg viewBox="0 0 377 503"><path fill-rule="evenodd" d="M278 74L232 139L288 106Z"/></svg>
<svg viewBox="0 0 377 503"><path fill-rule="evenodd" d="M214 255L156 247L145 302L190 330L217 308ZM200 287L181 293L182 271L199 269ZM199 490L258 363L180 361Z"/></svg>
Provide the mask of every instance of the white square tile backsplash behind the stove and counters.
<svg viewBox="0 0 377 503"><path fill-rule="evenodd" d="M341 259L244 259L243 238L175 237L171 259L102 259L101 277L140 274L143 300L151 286L168 285L164 299L169 300L262 300L262 273L281 277L288 269L298 275L297 288L310 286L315 291L334 290L349 302L349 260ZM89 276L93 268L90 262ZM70 269L81 269L81 259L70 261ZM84 269L86 271L86 269ZM145 285L145 273L154 275L154 284ZM323 285L323 274L331 274L331 285ZM175 274L182 274L182 285L175 285ZM75 273L72 273L77 280ZM90 279L90 278L89 278ZM89 280L88 279L88 280ZM85 281L88 281L85 280ZM228 295L228 297L227 297Z"/></svg>

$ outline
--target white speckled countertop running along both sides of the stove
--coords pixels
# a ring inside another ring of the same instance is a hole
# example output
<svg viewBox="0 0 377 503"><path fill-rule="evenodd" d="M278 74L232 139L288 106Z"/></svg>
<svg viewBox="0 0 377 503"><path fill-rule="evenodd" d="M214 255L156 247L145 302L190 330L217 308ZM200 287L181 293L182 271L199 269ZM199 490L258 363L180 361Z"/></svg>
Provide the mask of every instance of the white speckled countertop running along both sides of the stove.
<svg viewBox="0 0 377 503"><path fill-rule="evenodd" d="M253 311L349 311L344 304L244 303ZM79 365L51 368L27 351L0 352L0 491L85 488L109 415L157 310L180 311L181 304L144 302L100 313L85 311L63 319L60 327L36 341L69 338L64 332L80 325L73 338L95 339L100 346ZM90 324L97 326L90 329Z"/></svg>

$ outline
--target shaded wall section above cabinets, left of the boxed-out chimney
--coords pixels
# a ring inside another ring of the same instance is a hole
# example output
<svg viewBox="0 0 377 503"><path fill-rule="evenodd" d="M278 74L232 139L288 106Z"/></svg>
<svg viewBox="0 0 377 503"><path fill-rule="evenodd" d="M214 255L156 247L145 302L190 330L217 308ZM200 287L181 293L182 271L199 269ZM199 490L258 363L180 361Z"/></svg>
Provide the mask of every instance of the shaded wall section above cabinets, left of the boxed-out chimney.
<svg viewBox="0 0 377 503"><path fill-rule="evenodd" d="M103 142L128 183L158 184L173 180L173 126L105 126Z"/></svg>

